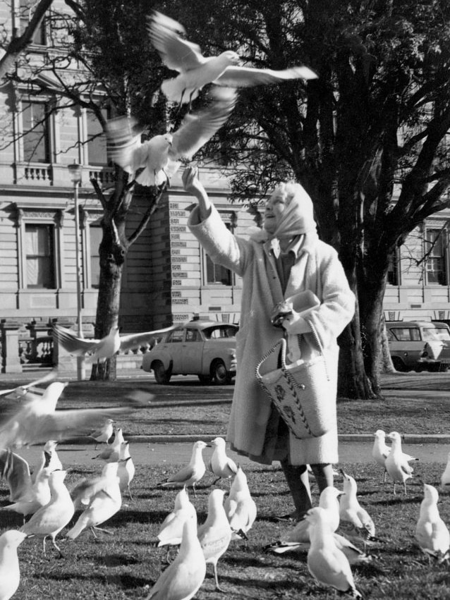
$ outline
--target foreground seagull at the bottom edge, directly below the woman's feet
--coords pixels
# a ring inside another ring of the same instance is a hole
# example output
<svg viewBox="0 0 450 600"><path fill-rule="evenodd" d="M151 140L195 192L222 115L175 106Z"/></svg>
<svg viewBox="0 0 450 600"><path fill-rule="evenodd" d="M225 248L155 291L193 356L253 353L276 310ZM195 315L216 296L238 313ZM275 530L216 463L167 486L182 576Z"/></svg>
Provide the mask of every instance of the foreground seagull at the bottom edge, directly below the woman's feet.
<svg viewBox="0 0 450 600"><path fill-rule="evenodd" d="M305 519L312 525L311 546L307 559L312 577L322 585L351 594L353 598L362 598L362 594L355 587L346 555L334 543L327 511L320 507L311 508Z"/></svg>

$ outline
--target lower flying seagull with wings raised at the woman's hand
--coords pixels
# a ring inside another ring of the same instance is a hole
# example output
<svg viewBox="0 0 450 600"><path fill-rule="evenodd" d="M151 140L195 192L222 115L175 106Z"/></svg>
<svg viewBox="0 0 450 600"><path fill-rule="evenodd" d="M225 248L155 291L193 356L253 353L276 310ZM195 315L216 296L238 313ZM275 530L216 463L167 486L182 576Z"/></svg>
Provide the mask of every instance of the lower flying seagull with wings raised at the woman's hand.
<svg viewBox="0 0 450 600"><path fill-rule="evenodd" d="M130 173L140 185L169 183L182 160L190 160L221 128L236 104L235 90L216 88L211 102L189 113L173 133L154 135L140 141L138 121L120 116L107 123L107 144L111 159ZM143 169L135 176L138 169Z"/></svg>

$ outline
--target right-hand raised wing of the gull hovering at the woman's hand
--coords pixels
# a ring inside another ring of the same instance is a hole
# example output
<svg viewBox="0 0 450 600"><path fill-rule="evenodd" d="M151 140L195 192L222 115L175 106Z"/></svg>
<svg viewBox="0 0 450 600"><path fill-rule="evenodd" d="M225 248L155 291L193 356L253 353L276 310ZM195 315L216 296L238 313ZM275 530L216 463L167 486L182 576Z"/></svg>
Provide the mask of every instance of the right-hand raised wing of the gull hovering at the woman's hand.
<svg viewBox="0 0 450 600"><path fill-rule="evenodd" d="M180 128L173 135L169 158L191 159L195 152L208 142L231 115L236 105L235 90L214 90L212 103L197 113L183 118Z"/></svg>

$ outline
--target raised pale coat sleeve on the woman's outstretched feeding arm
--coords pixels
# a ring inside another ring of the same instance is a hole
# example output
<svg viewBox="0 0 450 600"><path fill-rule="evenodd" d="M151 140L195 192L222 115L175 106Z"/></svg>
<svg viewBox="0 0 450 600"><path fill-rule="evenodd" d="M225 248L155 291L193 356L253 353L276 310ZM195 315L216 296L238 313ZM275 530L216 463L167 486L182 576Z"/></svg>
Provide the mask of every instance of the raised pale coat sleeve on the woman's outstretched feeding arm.
<svg viewBox="0 0 450 600"><path fill-rule="evenodd" d="M233 235L214 206L204 221L200 221L198 207L195 207L190 213L188 227L205 248L212 262L243 276L251 252L251 243Z"/></svg>

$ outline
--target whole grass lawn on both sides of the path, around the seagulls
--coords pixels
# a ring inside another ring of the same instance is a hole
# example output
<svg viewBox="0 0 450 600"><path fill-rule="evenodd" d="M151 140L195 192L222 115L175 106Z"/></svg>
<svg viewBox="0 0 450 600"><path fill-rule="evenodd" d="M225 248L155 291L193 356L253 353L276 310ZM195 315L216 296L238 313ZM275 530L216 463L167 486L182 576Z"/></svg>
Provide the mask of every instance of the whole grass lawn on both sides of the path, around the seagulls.
<svg viewBox="0 0 450 600"><path fill-rule="evenodd" d="M164 407L141 410L121 419L125 434L225 434L233 387L224 389L197 386L155 386L147 381L138 387L155 393L155 402ZM2 388L11 387L11 383ZM121 403L136 384L73 382L63 393L59 408L115 405ZM449 423L446 398L404 398L396 396L377 402L340 400L338 404L341 432L373 433L375 429L401 433L446 432ZM132 448L133 450L133 448ZM151 541L174 505L178 490L155 486L181 465L140 467L132 484L134 500L124 498L121 511L105 527L112 534L95 539L84 532L75 541L62 541L65 558L56 558L47 544L48 558L42 556L42 541L25 540L19 548L21 582L14 599L143 599L157 580L164 565L166 551ZM382 472L372 464L341 465L358 482L360 503L375 521L383 544L370 550L372 564L353 568L358 589L371 599L450 599L450 573L447 565L428 563L415 546L413 534L418 519L422 486L418 478L408 482L408 495L394 496L390 482L382 484ZM102 465L78 465L71 468L66 483L71 489L83 477L97 475ZM443 465L417 463L416 473L427 483L438 485ZM315 584L308 573L305 555L282 556L262 553L262 546L279 539L289 527L276 522L274 515L288 513L292 506L284 478L277 467L247 467L248 482L257 503L258 518L247 544L232 541L219 561L219 581L227 596L238 599L335 599L336 594ZM212 477L205 476L191 501L197 508L199 522L206 518L207 496ZM228 484L222 484L227 489ZM341 482L336 486L341 488ZM317 493L313 488L314 503ZM0 505L8 504L8 491L0 482ZM439 510L450 524L450 501L444 493ZM19 527L21 517L0 511L0 532ZM212 567L196 596L216 600L223 594L214 591Z"/></svg>

